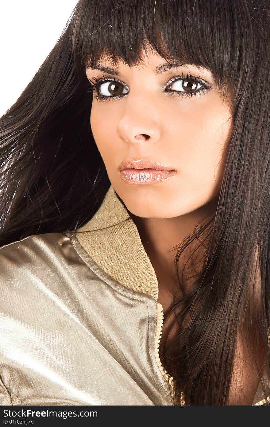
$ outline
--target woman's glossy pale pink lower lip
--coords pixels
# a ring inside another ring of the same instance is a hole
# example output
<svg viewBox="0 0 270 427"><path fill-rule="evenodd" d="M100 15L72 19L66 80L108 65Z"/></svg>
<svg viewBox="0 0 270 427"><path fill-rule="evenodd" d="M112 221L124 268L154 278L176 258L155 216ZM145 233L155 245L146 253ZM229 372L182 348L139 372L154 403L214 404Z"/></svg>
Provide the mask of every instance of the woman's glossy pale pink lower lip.
<svg viewBox="0 0 270 427"><path fill-rule="evenodd" d="M128 184L154 184L166 181L176 174L176 170L157 169L125 169L120 172L120 177Z"/></svg>

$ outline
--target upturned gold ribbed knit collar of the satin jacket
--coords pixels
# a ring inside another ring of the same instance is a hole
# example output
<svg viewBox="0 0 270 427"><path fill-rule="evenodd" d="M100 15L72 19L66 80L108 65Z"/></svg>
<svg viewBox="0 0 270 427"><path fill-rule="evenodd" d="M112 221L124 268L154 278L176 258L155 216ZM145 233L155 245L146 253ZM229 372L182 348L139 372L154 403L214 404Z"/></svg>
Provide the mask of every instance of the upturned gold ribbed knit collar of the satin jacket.
<svg viewBox="0 0 270 427"><path fill-rule="evenodd" d="M112 185L93 218L78 231L81 246L111 278L157 301L156 273L139 231Z"/></svg>

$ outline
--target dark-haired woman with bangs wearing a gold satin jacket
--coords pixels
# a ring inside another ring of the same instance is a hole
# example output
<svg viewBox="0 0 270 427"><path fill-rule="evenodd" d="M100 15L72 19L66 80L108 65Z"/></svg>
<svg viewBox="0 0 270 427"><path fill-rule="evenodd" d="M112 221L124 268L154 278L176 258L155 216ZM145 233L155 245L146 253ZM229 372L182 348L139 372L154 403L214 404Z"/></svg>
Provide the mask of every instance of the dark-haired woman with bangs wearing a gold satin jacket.
<svg viewBox="0 0 270 427"><path fill-rule="evenodd" d="M269 404L269 41L78 2L0 120L2 404Z"/></svg>

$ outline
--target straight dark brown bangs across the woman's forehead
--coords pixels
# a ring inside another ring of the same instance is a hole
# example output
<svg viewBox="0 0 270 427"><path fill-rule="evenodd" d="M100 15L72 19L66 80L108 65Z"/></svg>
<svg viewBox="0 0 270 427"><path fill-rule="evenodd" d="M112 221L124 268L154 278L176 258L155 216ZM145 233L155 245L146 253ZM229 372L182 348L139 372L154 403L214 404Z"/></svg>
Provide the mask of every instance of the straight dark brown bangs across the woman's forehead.
<svg viewBox="0 0 270 427"><path fill-rule="evenodd" d="M72 50L80 73L107 56L117 66L142 63L151 48L166 61L211 71L221 90L256 61L256 30L246 0L81 0L73 20ZM247 31L248 29L248 31ZM249 48L246 49L246 46Z"/></svg>

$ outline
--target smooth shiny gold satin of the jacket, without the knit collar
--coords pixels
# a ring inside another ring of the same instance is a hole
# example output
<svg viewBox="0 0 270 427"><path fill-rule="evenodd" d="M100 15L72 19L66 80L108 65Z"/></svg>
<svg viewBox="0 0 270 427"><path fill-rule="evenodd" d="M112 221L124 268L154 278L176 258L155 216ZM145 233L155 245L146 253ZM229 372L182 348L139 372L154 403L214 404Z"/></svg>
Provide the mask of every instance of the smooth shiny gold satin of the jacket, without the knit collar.
<svg viewBox="0 0 270 427"><path fill-rule="evenodd" d="M69 237L3 247L0 289L1 404L168 404L155 300L82 260Z"/></svg>

